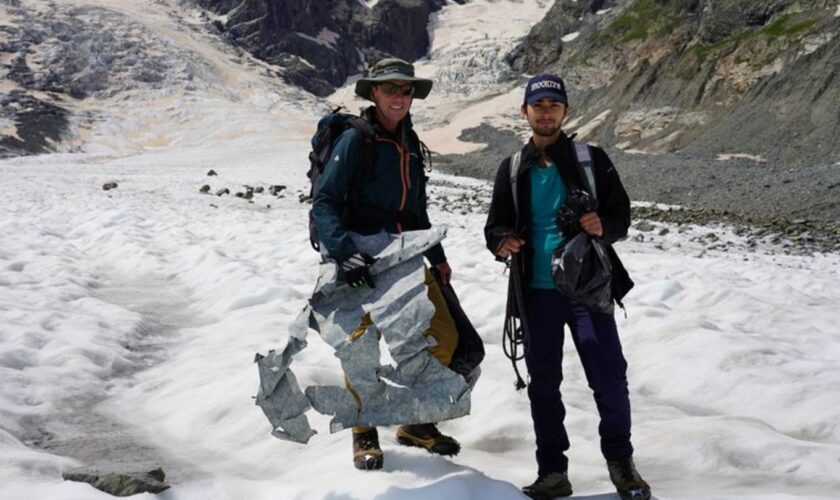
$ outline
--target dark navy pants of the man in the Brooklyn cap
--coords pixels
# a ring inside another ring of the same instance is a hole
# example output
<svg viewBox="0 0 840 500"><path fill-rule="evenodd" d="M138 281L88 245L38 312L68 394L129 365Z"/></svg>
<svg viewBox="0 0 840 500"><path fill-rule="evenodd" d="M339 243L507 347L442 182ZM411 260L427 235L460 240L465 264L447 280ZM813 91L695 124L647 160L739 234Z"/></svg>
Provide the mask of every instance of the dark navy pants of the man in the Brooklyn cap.
<svg viewBox="0 0 840 500"><path fill-rule="evenodd" d="M601 453L610 461L632 456L627 361L613 316L591 313L556 290L537 289L525 292L525 314L525 363L530 375L528 397L537 435L539 474L565 472L569 463L565 455L569 437L563 425L566 408L560 396L564 325L569 325L595 396L601 417Z"/></svg>

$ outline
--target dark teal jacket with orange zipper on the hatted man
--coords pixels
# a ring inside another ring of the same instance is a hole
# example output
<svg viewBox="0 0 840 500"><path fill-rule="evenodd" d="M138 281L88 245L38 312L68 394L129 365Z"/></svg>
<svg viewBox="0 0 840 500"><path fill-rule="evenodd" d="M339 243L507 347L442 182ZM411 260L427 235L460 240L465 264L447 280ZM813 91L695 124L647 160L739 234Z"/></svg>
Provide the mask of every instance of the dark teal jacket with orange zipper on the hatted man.
<svg viewBox="0 0 840 500"><path fill-rule="evenodd" d="M411 116L394 134L379 125L373 106L362 112L362 118L373 124L376 133L372 168L357 172L361 137L355 129L346 130L318 179L312 202L321 245L338 262L358 252L348 231L374 234L384 229L397 234L431 227L427 177L420 144L411 132ZM446 261L441 245L424 255L432 265Z"/></svg>

